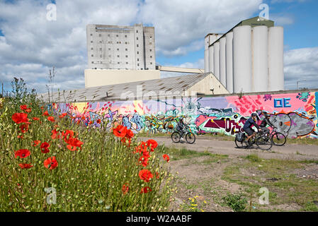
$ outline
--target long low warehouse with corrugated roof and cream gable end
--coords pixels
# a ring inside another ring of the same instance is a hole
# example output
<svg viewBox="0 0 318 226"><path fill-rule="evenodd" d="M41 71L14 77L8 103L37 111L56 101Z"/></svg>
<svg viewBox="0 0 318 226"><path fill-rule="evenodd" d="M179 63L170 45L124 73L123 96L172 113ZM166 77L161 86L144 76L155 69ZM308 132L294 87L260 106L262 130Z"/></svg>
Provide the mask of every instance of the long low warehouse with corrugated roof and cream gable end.
<svg viewBox="0 0 318 226"><path fill-rule="evenodd" d="M120 100L151 100L183 96L228 94L212 73L198 73L147 81L101 85L38 95L43 102L93 102Z"/></svg>

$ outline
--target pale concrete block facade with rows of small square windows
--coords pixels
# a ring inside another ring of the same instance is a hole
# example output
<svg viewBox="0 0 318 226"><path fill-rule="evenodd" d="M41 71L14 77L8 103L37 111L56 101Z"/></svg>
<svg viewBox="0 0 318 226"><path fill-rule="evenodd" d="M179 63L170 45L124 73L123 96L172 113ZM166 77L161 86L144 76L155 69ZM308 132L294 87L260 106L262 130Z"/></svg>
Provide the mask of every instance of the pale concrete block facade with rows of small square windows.
<svg viewBox="0 0 318 226"><path fill-rule="evenodd" d="M86 25L89 69L154 70L154 28Z"/></svg>

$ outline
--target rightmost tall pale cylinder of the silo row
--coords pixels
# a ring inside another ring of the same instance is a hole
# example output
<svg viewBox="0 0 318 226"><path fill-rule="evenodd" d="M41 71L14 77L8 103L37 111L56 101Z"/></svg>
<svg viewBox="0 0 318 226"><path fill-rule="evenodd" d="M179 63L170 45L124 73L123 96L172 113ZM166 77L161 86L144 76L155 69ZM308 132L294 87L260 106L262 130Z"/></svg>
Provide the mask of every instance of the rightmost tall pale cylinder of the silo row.
<svg viewBox="0 0 318 226"><path fill-rule="evenodd" d="M268 28L268 91L284 90L284 30Z"/></svg>

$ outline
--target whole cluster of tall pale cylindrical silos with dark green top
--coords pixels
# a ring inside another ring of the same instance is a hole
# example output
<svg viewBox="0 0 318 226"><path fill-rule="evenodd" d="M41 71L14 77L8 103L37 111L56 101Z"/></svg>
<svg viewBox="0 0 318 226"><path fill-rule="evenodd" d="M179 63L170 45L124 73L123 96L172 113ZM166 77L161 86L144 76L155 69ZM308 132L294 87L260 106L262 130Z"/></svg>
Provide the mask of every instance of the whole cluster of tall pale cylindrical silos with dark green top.
<svg viewBox="0 0 318 226"><path fill-rule="evenodd" d="M272 20L243 20L223 35L205 36L205 72L229 93L284 90L283 28Z"/></svg>

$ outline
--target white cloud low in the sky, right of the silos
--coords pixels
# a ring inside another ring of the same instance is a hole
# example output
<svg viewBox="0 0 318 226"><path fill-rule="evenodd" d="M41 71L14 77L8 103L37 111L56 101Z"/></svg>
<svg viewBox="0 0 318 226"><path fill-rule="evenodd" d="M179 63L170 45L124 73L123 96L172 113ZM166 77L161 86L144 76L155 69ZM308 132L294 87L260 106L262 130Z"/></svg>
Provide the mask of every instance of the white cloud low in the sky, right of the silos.
<svg viewBox="0 0 318 226"><path fill-rule="evenodd" d="M318 47L293 49L284 54L285 90L318 88ZM302 81L302 80L306 81Z"/></svg>

